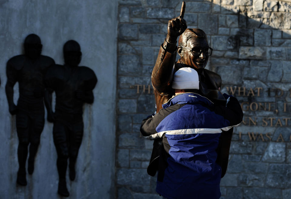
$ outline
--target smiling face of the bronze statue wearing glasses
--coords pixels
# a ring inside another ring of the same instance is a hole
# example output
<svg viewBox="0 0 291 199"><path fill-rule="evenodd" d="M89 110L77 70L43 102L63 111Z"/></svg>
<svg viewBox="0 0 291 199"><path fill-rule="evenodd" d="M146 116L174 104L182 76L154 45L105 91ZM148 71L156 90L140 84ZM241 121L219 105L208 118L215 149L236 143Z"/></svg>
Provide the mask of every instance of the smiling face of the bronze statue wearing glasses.
<svg viewBox="0 0 291 199"><path fill-rule="evenodd" d="M187 42L188 48L198 47L199 48L208 48L208 42L205 38L190 38ZM184 64L192 66L192 68L205 68L207 65L208 57L205 52L202 50L200 55L193 55L191 50L183 48L183 57L181 58ZM199 53L198 53L199 54Z"/></svg>

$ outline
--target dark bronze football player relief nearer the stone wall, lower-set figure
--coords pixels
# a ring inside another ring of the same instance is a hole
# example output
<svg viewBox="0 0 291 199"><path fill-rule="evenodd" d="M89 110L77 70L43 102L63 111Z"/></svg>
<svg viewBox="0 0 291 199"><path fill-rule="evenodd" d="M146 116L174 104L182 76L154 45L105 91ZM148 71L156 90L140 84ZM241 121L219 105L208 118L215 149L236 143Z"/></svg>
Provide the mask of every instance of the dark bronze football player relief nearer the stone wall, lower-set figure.
<svg viewBox="0 0 291 199"><path fill-rule="evenodd" d="M93 88L97 83L94 71L78 66L82 53L78 42L67 41L63 47L65 65L54 65L45 76L45 105L48 121L54 123L53 138L57 151L59 173L58 193L68 197L66 171L69 159L69 177L75 179L75 163L83 137L83 104L94 101ZM51 93L55 91L55 112Z"/></svg>

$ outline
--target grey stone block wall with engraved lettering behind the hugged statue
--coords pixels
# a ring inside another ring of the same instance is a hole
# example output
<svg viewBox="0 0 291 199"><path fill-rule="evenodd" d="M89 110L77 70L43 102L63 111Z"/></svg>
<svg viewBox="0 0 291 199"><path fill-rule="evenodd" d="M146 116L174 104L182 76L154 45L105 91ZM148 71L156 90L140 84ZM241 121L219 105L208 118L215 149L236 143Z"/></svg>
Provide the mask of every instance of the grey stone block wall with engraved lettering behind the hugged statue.
<svg viewBox="0 0 291 199"><path fill-rule="evenodd" d="M182 1L181 1L182 2ZM161 198L146 173L152 142L139 132L155 111L151 72L176 0L119 0L116 198ZM271 0L186 1L189 28L214 49L206 68L244 110L235 128L224 199L291 198L291 3ZM177 57L178 58L178 57Z"/></svg>

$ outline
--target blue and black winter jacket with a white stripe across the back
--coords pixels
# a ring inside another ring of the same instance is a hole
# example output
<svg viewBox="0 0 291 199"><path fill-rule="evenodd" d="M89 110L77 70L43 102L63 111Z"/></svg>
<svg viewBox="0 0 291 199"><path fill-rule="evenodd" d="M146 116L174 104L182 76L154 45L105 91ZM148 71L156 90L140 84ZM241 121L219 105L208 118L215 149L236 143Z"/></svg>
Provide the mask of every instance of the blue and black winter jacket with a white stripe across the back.
<svg viewBox="0 0 291 199"><path fill-rule="evenodd" d="M195 93L183 93L142 121L143 136L163 138L156 186L160 195L169 199L221 196L221 167L215 162L215 150L220 133L239 125L243 118L239 102L232 96L229 99L226 107Z"/></svg>

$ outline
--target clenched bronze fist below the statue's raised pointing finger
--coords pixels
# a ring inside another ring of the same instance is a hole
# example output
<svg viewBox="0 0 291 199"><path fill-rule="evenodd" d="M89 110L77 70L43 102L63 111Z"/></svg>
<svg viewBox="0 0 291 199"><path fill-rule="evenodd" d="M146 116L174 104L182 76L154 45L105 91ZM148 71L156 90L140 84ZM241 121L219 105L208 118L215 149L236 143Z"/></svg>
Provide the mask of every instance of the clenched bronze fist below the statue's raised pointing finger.
<svg viewBox="0 0 291 199"><path fill-rule="evenodd" d="M181 16L169 20L166 41L169 43L176 43L177 38L186 30L186 28L186 21Z"/></svg>

